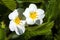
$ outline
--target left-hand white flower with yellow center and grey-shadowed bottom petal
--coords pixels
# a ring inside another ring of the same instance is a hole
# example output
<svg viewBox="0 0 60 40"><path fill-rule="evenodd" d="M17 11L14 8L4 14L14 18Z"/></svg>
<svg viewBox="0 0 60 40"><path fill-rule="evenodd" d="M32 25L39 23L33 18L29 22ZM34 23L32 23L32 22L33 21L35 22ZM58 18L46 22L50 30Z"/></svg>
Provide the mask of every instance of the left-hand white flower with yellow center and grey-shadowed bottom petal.
<svg viewBox="0 0 60 40"><path fill-rule="evenodd" d="M11 31L15 31L17 35L21 35L25 32L25 21L19 18L18 9L15 9L12 13L9 14L9 19L9 28Z"/></svg>

